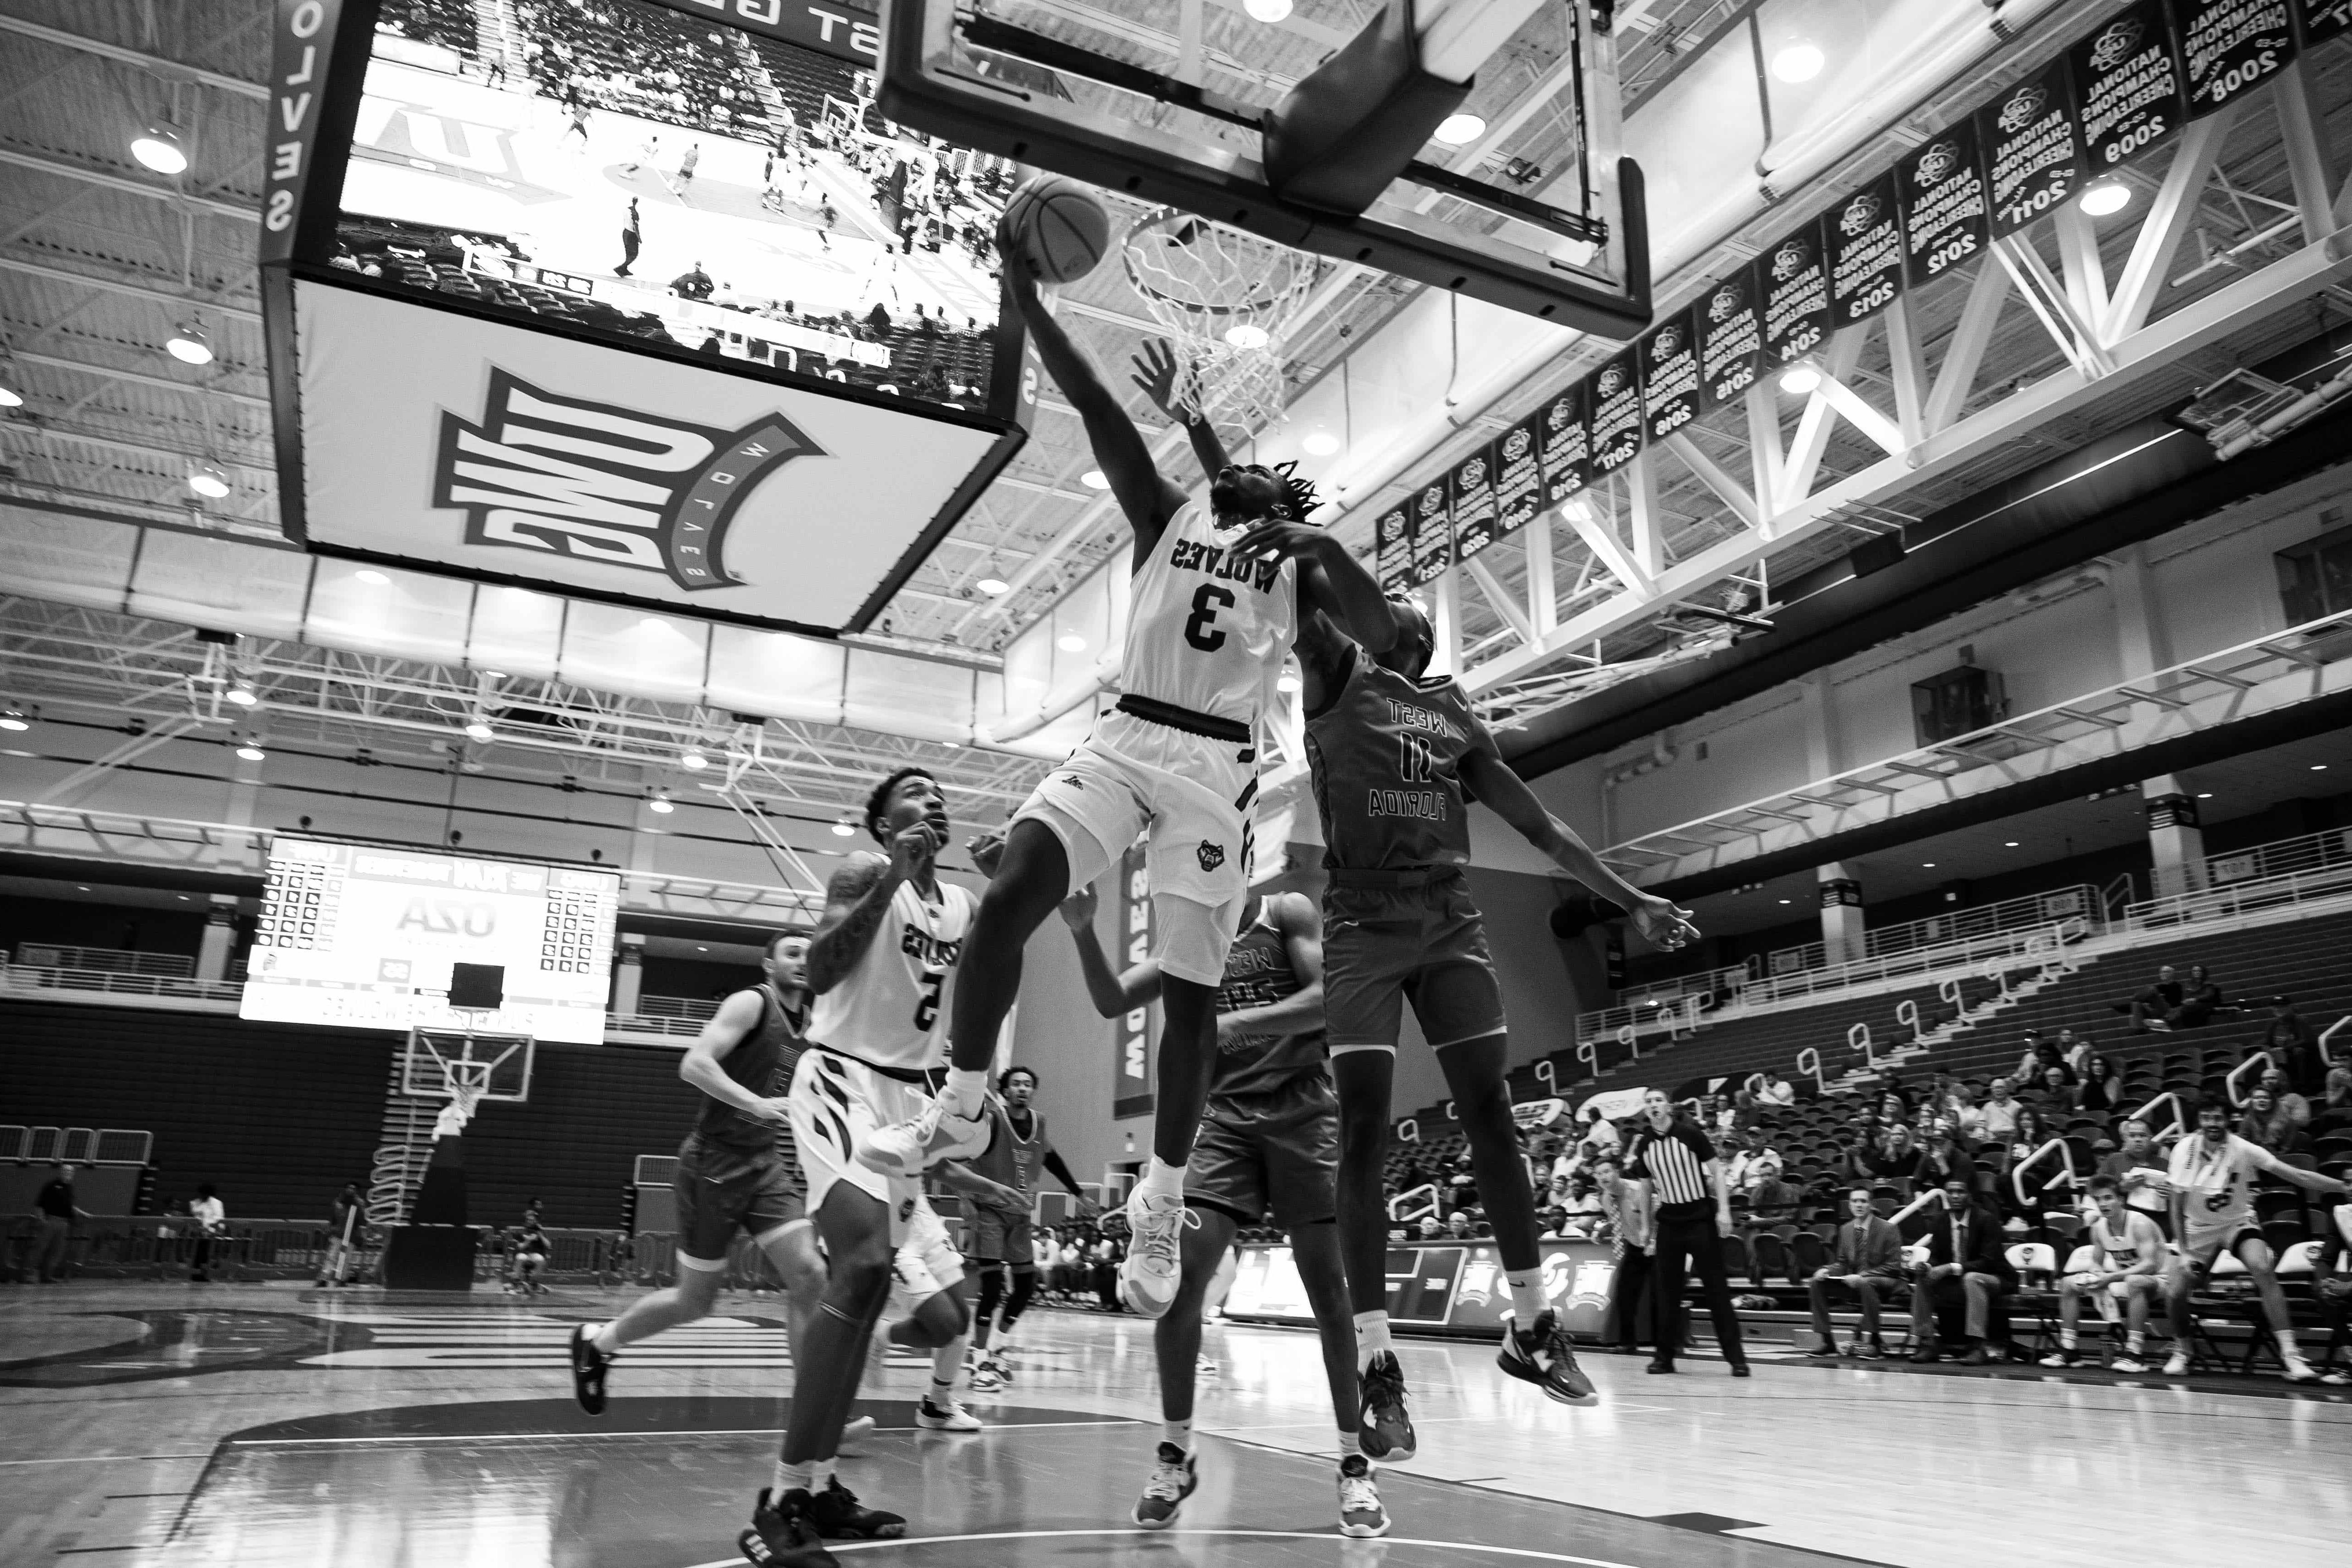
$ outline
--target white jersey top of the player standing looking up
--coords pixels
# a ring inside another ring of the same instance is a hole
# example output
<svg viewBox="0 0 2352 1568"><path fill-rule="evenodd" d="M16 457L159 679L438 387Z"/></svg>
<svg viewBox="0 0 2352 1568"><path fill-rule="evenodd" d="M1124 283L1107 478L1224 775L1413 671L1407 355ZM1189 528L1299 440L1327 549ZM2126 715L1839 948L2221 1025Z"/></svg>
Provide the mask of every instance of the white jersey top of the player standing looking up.
<svg viewBox="0 0 2352 1568"><path fill-rule="evenodd" d="M927 905L901 882L856 966L809 1009L809 1044L896 1072L946 1065L946 990L971 910L960 886L941 882L938 903Z"/></svg>

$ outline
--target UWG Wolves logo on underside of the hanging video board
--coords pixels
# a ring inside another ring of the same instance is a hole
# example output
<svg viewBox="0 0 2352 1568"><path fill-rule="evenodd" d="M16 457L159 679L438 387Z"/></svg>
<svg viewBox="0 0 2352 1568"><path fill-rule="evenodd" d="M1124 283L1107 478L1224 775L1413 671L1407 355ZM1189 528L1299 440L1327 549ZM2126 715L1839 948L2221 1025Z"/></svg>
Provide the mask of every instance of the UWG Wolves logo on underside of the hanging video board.
<svg viewBox="0 0 2352 1568"><path fill-rule="evenodd" d="M433 505L466 512L468 545L555 550L734 588L727 524L781 463L823 449L783 414L715 430L543 393L492 367L480 423L442 411Z"/></svg>

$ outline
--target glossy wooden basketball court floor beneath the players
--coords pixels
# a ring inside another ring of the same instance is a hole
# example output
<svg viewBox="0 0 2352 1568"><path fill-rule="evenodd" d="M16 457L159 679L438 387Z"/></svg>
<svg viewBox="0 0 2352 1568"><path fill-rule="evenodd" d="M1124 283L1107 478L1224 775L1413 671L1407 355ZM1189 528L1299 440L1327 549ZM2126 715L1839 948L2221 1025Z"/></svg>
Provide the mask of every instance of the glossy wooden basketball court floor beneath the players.
<svg viewBox="0 0 2352 1568"><path fill-rule="evenodd" d="M289 1286L0 1293L0 1563L49 1568L699 1568L783 1425L781 1302L633 1349L581 1415L562 1338L626 1293L400 1298ZM844 1481L910 1537L858 1568L1905 1568L2319 1563L2352 1540L2352 1399L1590 1356L1571 1410L1477 1345L1404 1347L1423 1455L1385 1467L1395 1533L1334 1530L1308 1338L1221 1326L1183 1528L1127 1521L1157 1441L1150 1326L1037 1312L976 1436L917 1432L922 1363L868 1375ZM2129 1530L2119 1535L2119 1521Z"/></svg>

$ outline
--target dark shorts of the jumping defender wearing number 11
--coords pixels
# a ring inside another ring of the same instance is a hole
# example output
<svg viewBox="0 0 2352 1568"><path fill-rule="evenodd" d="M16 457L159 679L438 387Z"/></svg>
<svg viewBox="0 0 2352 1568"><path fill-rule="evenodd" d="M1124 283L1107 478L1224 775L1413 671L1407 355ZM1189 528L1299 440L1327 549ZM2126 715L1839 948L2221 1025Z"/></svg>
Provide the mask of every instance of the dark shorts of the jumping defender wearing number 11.
<svg viewBox="0 0 2352 1568"><path fill-rule="evenodd" d="M1432 1048L1501 1034L1486 922L1456 867L1416 886L1324 889L1324 1034L1331 1053L1395 1051L1404 1004Z"/></svg>

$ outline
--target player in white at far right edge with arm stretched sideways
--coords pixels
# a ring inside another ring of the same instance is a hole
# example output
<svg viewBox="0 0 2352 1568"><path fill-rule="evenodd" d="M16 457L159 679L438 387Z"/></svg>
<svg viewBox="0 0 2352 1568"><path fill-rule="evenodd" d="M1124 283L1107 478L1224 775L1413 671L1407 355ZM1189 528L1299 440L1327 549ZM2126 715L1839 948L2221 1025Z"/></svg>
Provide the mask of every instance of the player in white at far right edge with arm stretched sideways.
<svg viewBox="0 0 2352 1568"><path fill-rule="evenodd" d="M2253 1276L2253 1288L2263 1298L2263 1316L2279 1340L2286 1380L2319 1380L2319 1371L2303 1359L2303 1349L2296 1345L2296 1319L2286 1312L2286 1295L2279 1291L2279 1260L2253 1215L2253 1178L2265 1171L2307 1192L2345 1192L2345 1182L2333 1175L2298 1171L2263 1145L2232 1133L2225 1105L2201 1105L2197 1135L2173 1145L2166 1180L2173 1190L2173 1237L2180 1239L2180 1255L2173 1258L2173 1267L2164 1276L2164 1305L2173 1321L2173 1354L2164 1363L2166 1378L2180 1378L2190 1371L2190 1338L2197 1328L2190 1295L2204 1284L2213 1260L2227 1251L2237 1253L2246 1274Z"/></svg>

